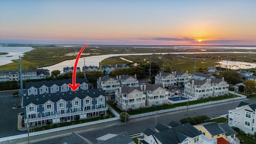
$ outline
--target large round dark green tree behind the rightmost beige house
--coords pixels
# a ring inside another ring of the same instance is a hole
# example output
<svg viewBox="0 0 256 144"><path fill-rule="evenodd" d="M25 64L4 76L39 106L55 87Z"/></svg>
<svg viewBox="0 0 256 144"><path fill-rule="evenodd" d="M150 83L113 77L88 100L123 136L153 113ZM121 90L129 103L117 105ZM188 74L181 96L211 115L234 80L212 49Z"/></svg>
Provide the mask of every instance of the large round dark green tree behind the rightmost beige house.
<svg viewBox="0 0 256 144"><path fill-rule="evenodd" d="M242 77L241 74L234 70L227 70L220 74L220 78L224 77L224 80L228 82L229 84L237 84L242 82L240 79Z"/></svg>

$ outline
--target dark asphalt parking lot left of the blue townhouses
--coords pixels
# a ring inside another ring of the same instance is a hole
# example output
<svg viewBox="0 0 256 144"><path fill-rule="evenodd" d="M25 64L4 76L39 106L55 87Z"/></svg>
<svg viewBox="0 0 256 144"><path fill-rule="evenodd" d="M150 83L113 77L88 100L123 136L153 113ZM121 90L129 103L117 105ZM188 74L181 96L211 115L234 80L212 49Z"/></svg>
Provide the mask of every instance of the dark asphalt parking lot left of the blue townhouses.
<svg viewBox="0 0 256 144"><path fill-rule="evenodd" d="M24 134L26 131L18 130L17 114L23 112L23 109L12 109L14 104L20 105L20 98L12 98L12 92L0 92L0 138Z"/></svg>

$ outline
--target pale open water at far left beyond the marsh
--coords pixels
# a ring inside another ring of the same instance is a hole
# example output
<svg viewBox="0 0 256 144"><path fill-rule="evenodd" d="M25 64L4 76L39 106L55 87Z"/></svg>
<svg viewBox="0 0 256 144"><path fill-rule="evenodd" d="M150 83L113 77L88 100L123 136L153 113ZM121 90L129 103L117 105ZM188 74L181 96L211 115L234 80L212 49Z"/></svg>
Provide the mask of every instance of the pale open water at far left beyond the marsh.
<svg viewBox="0 0 256 144"><path fill-rule="evenodd" d="M30 46L0 46L0 52L7 52L9 54L0 55L0 66L12 63L12 60L19 59L19 56L24 56L25 52L29 52L34 48Z"/></svg>

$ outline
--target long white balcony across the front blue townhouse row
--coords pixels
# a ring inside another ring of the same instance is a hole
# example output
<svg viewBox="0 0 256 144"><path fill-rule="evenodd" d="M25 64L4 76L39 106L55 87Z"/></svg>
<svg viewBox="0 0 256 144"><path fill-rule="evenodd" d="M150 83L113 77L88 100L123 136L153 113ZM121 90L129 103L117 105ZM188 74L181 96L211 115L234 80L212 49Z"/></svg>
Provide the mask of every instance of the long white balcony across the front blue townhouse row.
<svg viewBox="0 0 256 144"><path fill-rule="evenodd" d="M61 117L65 117L65 116L74 116L74 115L78 115L78 114L87 114L87 113L91 113L91 112L100 112L103 110L108 110L108 107L96 108L96 109L84 110L84 111L78 111L78 112L69 112L69 113L65 113L65 114L56 114L56 115L52 115L52 116L42 116L40 118L30 118L30 119L28 119L28 122L37 122L40 120L49 120L52 118L61 118ZM27 123L26 118L25 118L24 122Z"/></svg>

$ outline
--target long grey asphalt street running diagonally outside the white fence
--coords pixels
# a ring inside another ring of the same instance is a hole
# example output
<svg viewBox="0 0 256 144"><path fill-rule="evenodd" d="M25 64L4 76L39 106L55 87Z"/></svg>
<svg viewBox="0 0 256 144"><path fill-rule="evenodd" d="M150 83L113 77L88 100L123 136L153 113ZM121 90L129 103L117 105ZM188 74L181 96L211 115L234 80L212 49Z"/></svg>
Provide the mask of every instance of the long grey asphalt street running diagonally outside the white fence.
<svg viewBox="0 0 256 144"><path fill-rule="evenodd" d="M253 100L244 100L244 102L248 102L248 103L256 103L256 99ZM167 114L167 115L162 115L162 116L157 116L157 118L155 119L155 117L151 117L149 119L144 119L141 121L137 121L137 122L128 122L127 124L122 124L122 125L118 125L118 126L113 126L110 128L102 128L99 130L94 130L94 131L90 131L90 132L84 132L84 133L80 133L81 136L87 138L88 140L90 140L93 143L96 143L97 140L96 138L103 136L105 134L120 134L122 132L128 132L128 134L136 134L136 133L140 133L143 132L144 130L146 130L146 128L152 128L154 129L155 123L162 123L166 126L168 126L168 124L173 120L175 122L179 122L179 120L181 118L185 118L185 117L194 117L194 116L198 116L198 115L206 115L208 117L214 117L214 116L220 116L220 115L224 115L224 114L228 114L228 110L232 110L235 109L238 104L240 102L234 102L234 103L229 103L229 104L222 104L219 106L214 106L214 107L210 107L210 108L202 108L202 109L197 109L197 110L189 110L188 112L186 110L184 110L183 112L180 113L176 113L176 114ZM156 121L155 121L156 120ZM52 140L46 140L44 142L38 142L36 144L59 144L64 137L62 138L55 138Z"/></svg>

